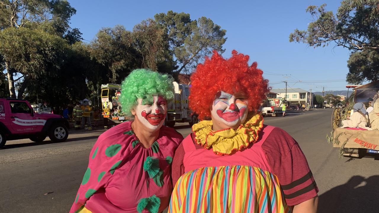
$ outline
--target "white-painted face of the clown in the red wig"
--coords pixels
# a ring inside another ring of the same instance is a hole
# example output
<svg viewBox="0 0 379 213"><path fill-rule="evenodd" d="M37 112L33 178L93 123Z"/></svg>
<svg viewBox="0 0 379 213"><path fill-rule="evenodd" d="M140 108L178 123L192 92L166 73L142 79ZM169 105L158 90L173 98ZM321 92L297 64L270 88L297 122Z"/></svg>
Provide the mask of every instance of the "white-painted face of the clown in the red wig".
<svg viewBox="0 0 379 213"><path fill-rule="evenodd" d="M211 107L213 130L237 128L245 122L248 100L243 94L218 92Z"/></svg>

